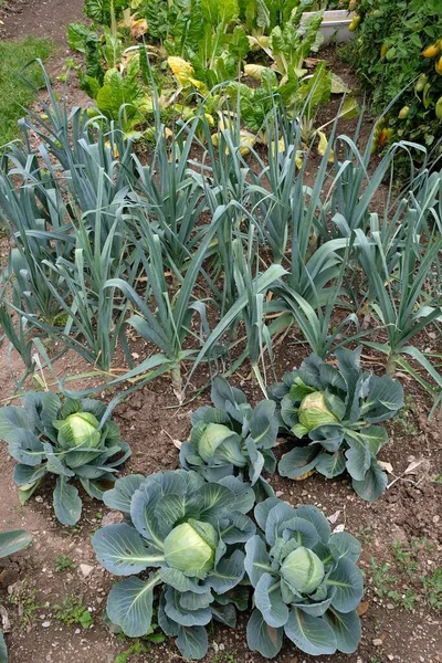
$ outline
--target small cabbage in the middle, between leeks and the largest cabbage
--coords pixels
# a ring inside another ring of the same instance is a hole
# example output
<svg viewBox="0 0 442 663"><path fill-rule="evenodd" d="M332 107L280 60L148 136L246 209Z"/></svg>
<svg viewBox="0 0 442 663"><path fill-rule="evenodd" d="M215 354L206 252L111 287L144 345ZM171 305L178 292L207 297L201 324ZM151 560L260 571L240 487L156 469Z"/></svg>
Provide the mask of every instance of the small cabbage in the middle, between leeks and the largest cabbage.
<svg viewBox="0 0 442 663"><path fill-rule="evenodd" d="M214 482L240 475L251 482L257 501L273 495L261 473L276 469L272 451L278 431L275 403L263 400L252 408L245 394L220 376L213 380L211 397L214 407L192 413L190 441L181 445L181 466Z"/></svg>

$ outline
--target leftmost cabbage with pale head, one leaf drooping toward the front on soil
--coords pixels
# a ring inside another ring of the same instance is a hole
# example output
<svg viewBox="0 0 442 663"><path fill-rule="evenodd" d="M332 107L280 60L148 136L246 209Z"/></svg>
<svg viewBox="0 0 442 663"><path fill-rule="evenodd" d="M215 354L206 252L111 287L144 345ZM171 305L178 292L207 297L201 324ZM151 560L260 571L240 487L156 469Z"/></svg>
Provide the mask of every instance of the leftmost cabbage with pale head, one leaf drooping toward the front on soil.
<svg viewBox="0 0 442 663"><path fill-rule="evenodd" d="M82 501L70 481L78 480L91 497L102 499L130 449L117 424L103 421L106 406L101 401L67 398L62 402L56 393L39 391L30 391L21 401L22 407L0 409L0 439L18 461L13 478L20 502L24 504L48 474L54 474L55 516L63 525L75 525Z"/></svg>

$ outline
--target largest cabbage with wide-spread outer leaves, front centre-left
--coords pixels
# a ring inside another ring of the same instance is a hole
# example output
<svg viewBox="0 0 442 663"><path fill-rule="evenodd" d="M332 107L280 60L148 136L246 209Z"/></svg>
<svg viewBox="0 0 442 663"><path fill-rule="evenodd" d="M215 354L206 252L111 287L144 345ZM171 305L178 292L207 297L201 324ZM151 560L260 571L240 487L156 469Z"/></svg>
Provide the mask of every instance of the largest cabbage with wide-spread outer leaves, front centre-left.
<svg viewBox="0 0 442 663"><path fill-rule="evenodd" d="M202 659L204 627L212 619L234 627L235 607L248 606L249 589L239 583L245 573L241 548L255 533L245 515L253 490L238 477L207 483L197 472L176 470L125 476L104 502L125 519L96 532L92 545L108 571L129 576L112 588L107 617L126 635L143 636L157 599L166 635L177 639L185 659Z"/></svg>

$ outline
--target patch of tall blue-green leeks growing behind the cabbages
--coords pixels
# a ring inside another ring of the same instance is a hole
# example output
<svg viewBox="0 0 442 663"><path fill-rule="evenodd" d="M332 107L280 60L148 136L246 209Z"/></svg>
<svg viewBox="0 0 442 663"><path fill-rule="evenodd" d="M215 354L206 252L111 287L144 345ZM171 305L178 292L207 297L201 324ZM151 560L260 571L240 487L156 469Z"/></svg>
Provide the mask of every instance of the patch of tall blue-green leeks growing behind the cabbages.
<svg viewBox="0 0 442 663"><path fill-rule="evenodd" d="M75 398L168 372L182 399L201 362L233 372L246 360L266 393L291 330L322 359L361 343L438 398L439 357L412 341L441 318L442 178L423 168L396 192L407 146L370 169L369 146L334 130L313 179L296 119L274 108L265 152L244 155L239 123L214 140L200 108L173 133L157 113L144 164L117 125L51 99L48 119L23 119L0 170L12 242L0 323L29 372L35 350L51 369L70 349L102 378Z"/></svg>

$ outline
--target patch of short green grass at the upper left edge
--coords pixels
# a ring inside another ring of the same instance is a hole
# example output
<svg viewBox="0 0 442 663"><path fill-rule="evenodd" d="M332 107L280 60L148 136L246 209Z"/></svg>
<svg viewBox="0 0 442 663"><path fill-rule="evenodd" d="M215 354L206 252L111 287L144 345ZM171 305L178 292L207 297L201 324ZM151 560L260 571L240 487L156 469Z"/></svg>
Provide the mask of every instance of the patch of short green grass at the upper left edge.
<svg viewBox="0 0 442 663"><path fill-rule="evenodd" d="M17 137L17 120L23 116L21 106L27 107L34 98L32 90L19 78L19 72L34 57L46 60L53 50L54 44L48 39L0 42L0 146ZM27 78L35 86L42 85L36 63L27 70Z"/></svg>

